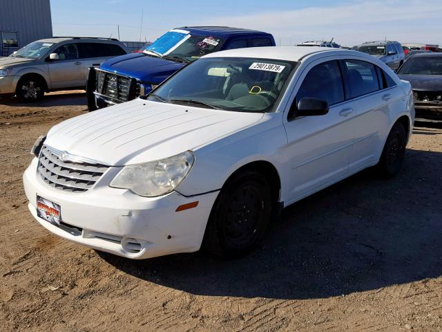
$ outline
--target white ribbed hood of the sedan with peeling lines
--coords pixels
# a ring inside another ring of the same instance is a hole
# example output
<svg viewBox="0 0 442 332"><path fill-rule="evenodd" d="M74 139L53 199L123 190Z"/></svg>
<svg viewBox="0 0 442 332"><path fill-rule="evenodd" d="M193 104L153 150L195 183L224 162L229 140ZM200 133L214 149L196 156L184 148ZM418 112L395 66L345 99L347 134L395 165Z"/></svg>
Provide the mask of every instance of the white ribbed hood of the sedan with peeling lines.
<svg viewBox="0 0 442 332"><path fill-rule="evenodd" d="M262 116L137 98L61 122L45 144L106 165L146 163L196 149Z"/></svg>

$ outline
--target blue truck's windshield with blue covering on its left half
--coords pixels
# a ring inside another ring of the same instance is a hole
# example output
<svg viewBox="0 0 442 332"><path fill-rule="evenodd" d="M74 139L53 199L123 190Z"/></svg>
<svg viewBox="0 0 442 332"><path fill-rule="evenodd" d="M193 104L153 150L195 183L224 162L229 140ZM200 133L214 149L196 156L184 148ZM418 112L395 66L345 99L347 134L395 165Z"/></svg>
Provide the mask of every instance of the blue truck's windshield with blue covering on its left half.
<svg viewBox="0 0 442 332"><path fill-rule="evenodd" d="M218 50L222 42L224 39L211 35L191 35L186 30L171 30L147 46L145 51L193 61Z"/></svg>

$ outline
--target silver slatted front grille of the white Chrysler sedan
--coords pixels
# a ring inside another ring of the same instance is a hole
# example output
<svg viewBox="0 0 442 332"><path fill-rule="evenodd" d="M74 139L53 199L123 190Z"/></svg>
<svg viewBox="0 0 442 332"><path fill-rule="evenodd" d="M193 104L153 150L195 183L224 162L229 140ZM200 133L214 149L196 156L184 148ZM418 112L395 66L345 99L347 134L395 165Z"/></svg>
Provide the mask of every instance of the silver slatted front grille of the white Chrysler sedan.
<svg viewBox="0 0 442 332"><path fill-rule="evenodd" d="M41 148L38 171L48 185L68 192L86 192L106 172L98 163L61 161L59 153Z"/></svg>

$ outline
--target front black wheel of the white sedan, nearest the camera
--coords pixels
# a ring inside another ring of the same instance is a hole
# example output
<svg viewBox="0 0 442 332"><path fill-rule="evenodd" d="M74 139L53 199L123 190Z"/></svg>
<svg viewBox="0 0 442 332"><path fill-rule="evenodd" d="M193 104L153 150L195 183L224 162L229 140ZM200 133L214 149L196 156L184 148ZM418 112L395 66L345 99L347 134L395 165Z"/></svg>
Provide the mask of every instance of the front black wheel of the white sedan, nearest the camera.
<svg viewBox="0 0 442 332"><path fill-rule="evenodd" d="M247 171L222 187L204 234L204 249L222 258L240 257L262 240L271 213L269 183Z"/></svg>

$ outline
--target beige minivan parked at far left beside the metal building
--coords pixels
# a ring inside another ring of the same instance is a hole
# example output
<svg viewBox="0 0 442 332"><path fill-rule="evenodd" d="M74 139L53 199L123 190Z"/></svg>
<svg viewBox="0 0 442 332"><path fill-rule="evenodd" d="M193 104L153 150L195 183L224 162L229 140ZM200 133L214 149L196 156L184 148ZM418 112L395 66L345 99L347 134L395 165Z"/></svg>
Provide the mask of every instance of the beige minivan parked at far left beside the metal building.
<svg viewBox="0 0 442 332"><path fill-rule="evenodd" d="M85 89L89 68L126 55L117 39L52 37L37 40L0 57L0 96L17 95L21 102L36 102L45 92Z"/></svg>

